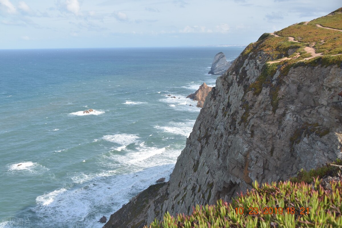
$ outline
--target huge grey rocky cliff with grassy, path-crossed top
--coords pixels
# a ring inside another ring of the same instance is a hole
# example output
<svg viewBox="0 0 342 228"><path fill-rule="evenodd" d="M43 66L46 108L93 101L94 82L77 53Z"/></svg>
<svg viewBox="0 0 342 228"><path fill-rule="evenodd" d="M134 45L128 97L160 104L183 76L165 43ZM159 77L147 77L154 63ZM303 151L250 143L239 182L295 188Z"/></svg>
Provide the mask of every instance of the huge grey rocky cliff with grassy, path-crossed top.
<svg viewBox="0 0 342 228"><path fill-rule="evenodd" d="M131 227L342 158L342 30L324 28L341 21L334 15L264 34L240 54L208 94L170 180L120 209L140 216L128 217ZM113 226L117 215L104 227L126 227Z"/></svg>

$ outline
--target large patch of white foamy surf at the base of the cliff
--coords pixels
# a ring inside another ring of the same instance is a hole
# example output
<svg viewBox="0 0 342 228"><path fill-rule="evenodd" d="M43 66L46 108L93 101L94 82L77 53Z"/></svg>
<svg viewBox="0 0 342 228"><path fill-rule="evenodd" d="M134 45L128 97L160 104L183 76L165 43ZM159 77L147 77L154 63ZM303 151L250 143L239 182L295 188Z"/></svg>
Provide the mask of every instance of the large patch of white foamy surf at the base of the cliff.
<svg viewBox="0 0 342 228"><path fill-rule="evenodd" d="M36 227L59 224L61 227L101 228L97 221L104 215L117 211L134 195L168 177L174 164L150 167L132 173L117 175L113 172L89 174L86 185L62 188L37 197L37 206L32 208L39 218ZM88 175L88 174L86 174Z"/></svg>

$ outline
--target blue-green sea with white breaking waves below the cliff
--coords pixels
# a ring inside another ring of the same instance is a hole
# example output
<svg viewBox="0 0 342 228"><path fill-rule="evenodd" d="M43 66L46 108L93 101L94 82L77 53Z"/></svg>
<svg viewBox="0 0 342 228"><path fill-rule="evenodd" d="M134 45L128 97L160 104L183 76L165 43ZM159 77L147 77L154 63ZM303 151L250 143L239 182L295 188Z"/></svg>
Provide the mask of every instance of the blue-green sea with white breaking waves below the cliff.
<svg viewBox="0 0 342 228"><path fill-rule="evenodd" d="M0 50L0 227L100 228L168 180L200 111L185 97L242 50Z"/></svg>

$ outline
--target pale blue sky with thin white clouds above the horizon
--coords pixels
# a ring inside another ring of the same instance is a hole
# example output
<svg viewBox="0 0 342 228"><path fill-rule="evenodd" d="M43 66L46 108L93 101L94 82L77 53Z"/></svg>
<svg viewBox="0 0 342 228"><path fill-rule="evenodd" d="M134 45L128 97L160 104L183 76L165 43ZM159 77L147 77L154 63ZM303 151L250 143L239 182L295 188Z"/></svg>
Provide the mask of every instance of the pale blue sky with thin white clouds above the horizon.
<svg viewBox="0 0 342 228"><path fill-rule="evenodd" d="M248 45L341 0L0 0L0 49Z"/></svg>

